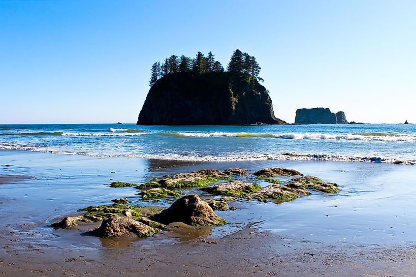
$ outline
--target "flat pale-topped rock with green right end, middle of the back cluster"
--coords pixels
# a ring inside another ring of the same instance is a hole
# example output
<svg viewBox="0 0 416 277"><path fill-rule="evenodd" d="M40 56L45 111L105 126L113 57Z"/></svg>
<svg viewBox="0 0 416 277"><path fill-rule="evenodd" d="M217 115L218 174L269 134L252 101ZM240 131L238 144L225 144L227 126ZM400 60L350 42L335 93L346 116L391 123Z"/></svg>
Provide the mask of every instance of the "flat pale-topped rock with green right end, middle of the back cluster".
<svg viewBox="0 0 416 277"><path fill-rule="evenodd" d="M256 192L261 189L261 186L253 183L244 183L241 181L230 181L228 183L207 186L201 189L215 195L238 197Z"/></svg>

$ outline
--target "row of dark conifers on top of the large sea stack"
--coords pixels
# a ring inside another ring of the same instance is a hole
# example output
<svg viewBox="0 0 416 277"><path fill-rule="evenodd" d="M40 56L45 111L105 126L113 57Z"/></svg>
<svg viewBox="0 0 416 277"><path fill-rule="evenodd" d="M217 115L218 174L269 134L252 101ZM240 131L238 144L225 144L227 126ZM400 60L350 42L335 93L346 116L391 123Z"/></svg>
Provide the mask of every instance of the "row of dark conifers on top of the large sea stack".
<svg viewBox="0 0 416 277"><path fill-rule="evenodd" d="M256 58L240 50L235 50L231 56L230 62L227 65L227 71L234 74L246 74L252 76L260 82L264 80L258 76L261 67L258 65ZM219 61L215 61L212 52L205 56L198 51L195 58L190 58L185 55L180 57L172 55L166 58L163 62L155 62L150 69L149 86L152 87L160 78L168 74L174 73L193 73L205 74L212 72L224 72L224 67Z"/></svg>

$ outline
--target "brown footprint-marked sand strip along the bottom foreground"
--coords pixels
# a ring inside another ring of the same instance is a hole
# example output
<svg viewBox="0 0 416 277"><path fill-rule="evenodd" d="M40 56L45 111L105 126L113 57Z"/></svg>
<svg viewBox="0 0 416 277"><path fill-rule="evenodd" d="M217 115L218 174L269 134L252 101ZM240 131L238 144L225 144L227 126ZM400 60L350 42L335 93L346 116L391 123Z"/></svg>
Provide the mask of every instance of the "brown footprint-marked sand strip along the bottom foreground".
<svg viewBox="0 0 416 277"><path fill-rule="evenodd" d="M413 276L416 247L383 248L294 241L250 227L207 238L183 223L153 238L102 240L96 249L35 245L1 236L2 276ZM87 229L90 228L86 227ZM76 237L83 230L62 231ZM178 237L179 240L168 237ZM57 238L58 239L58 238Z"/></svg>

